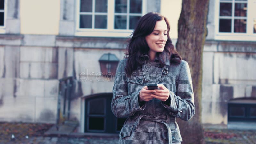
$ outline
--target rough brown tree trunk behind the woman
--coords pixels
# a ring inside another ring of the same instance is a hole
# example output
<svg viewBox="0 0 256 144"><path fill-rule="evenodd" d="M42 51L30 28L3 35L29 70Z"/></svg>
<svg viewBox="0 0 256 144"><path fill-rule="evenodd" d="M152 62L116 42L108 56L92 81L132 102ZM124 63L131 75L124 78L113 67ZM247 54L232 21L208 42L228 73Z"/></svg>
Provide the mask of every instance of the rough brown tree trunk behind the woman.
<svg viewBox="0 0 256 144"><path fill-rule="evenodd" d="M207 34L209 0L183 0L178 22L176 48L189 64L194 90L196 113L189 121L177 119L184 144L203 144L201 121L202 56Z"/></svg>

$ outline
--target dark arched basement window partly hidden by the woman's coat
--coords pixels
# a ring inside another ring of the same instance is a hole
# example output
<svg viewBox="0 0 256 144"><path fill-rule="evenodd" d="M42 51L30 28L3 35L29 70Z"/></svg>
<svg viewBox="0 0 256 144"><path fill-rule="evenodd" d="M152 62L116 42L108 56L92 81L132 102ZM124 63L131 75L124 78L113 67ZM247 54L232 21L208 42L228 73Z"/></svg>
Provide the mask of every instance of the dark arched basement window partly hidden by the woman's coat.
<svg viewBox="0 0 256 144"><path fill-rule="evenodd" d="M91 95L85 99L84 132L120 132L126 118L114 116L111 100L112 93Z"/></svg>

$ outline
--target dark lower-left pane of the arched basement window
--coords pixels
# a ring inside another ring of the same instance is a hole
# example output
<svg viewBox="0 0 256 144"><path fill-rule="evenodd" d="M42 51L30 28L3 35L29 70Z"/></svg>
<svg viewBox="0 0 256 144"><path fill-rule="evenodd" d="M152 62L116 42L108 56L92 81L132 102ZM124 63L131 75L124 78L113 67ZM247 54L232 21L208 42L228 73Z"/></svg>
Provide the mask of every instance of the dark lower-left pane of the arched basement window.
<svg viewBox="0 0 256 144"><path fill-rule="evenodd" d="M104 130L104 118L89 117L89 130Z"/></svg>

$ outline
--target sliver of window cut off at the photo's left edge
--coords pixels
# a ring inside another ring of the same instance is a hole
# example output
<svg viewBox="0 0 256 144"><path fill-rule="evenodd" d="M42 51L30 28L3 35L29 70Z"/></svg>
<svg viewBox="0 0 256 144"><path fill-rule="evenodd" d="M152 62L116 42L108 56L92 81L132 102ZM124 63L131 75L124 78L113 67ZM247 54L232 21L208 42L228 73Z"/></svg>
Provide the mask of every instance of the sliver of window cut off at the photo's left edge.
<svg viewBox="0 0 256 144"><path fill-rule="evenodd" d="M0 0L0 33L5 33L5 19L6 19L6 2Z"/></svg>

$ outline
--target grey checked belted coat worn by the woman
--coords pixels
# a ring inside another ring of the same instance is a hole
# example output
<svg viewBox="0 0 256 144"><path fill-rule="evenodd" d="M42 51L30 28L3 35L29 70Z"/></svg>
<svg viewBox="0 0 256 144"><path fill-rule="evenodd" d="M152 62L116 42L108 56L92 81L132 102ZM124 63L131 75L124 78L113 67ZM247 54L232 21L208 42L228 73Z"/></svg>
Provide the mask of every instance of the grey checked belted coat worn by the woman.
<svg viewBox="0 0 256 144"><path fill-rule="evenodd" d="M120 144L181 143L176 117L189 120L195 113L194 94L188 63L164 67L158 60L144 62L132 76L125 73L127 59L117 68L111 108L116 117L128 117L120 133ZM163 84L170 91L170 106L152 99L140 107L140 90L148 84Z"/></svg>

